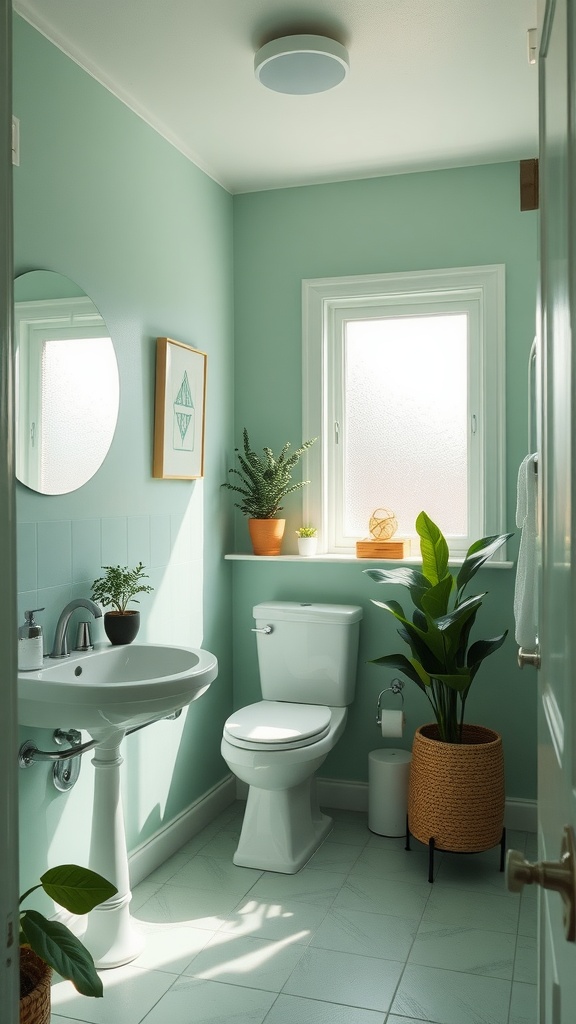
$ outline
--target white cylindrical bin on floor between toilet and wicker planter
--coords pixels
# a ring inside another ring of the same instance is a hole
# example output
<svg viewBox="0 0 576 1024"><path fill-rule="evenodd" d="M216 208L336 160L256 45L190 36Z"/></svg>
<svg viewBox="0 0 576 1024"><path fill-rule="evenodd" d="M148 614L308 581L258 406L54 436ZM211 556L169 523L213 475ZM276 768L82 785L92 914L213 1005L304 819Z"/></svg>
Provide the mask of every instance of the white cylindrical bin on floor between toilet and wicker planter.
<svg viewBox="0 0 576 1024"><path fill-rule="evenodd" d="M368 827L378 836L406 836L410 751L368 755Z"/></svg>

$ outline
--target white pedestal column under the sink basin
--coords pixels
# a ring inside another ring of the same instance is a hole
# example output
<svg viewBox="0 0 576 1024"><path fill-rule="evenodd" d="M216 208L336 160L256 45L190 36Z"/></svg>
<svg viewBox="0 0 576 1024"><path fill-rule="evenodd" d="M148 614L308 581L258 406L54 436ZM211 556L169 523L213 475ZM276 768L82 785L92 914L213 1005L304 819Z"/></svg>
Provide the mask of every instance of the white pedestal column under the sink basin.
<svg viewBox="0 0 576 1024"><path fill-rule="evenodd" d="M94 748L92 759L94 808L89 866L118 889L116 896L90 911L82 939L98 969L129 964L143 947L143 939L130 915L132 894L120 792L123 739L124 730L109 733Z"/></svg>

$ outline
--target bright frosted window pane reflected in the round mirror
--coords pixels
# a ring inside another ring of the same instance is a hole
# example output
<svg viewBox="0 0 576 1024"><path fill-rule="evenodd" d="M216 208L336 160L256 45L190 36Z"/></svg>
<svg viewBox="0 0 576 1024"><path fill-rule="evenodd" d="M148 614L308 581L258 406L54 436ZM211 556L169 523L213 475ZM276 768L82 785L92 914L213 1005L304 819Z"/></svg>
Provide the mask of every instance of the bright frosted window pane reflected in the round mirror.
<svg viewBox="0 0 576 1024"><path fill-rule="evenodd" d="M116 355L110 338L51 339L42 343L40 368L40 484L60 494L106 458L118 410Z"/></svg>

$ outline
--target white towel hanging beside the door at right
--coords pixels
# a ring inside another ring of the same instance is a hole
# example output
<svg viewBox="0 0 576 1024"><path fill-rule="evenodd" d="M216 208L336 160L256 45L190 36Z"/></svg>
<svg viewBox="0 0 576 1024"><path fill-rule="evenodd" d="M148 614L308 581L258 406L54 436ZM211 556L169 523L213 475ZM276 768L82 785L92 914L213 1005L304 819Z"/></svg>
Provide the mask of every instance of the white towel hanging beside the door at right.
<svg viewBox="0 0 576 1024"><path fill-rule="evenodd" d="M522 529L516 568L516 642L525 650L537 644L537 456L527 455L518 472L516 524Z"/></svg>

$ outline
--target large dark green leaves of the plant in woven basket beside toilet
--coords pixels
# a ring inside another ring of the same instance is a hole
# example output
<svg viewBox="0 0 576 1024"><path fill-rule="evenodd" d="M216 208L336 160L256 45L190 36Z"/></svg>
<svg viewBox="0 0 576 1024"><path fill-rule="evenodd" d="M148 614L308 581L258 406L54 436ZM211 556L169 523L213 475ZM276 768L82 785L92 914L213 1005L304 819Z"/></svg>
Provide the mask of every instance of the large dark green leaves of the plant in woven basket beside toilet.
<svg viewBox="0 0 576 1024"><path fill-rule="evenodd" d="M416 683L431 705L439 738L461 743L471 683L485 658L502 646L507 635L506 630L489 640L470 642L486 594L466 597L465 590L478 569L512 535L476 541L454 579L448 568L446 539L425 512L418 515L416 530L420 538L421 571L409 566L363 570L376 583L406 587L414 605L409 618L398 601L373 601L400 623L398 632L410 648L410 656L384 654L373 664L398 669Z"/></svg>

